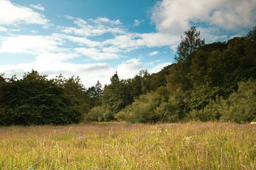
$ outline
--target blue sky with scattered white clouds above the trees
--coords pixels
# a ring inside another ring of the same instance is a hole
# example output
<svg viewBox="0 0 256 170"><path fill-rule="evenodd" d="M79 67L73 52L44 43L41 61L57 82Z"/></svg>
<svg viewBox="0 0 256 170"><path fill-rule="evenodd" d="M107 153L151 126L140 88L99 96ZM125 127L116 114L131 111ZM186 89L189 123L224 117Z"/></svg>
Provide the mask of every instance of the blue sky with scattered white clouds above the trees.
<svg viewBox="0 0 256 170"><path fill-rule="evenodd" d="M87 88L173 63L196 26L206 43L256 26L256 0L0 0L0 73L76 75Z"/></svg>

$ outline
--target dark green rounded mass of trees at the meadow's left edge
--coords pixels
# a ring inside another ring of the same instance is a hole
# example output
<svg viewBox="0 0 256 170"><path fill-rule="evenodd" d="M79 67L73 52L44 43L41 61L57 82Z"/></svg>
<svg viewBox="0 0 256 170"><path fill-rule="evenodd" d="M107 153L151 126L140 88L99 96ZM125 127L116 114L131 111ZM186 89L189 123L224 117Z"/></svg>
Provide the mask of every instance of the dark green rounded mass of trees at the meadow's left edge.
<svg viewBox="0 0 256 170"><path fill-rule="evenodd" d="M0 125L78 123L82 109L63 88L32 70L23 79L6 82L0 104Z"/></svg>

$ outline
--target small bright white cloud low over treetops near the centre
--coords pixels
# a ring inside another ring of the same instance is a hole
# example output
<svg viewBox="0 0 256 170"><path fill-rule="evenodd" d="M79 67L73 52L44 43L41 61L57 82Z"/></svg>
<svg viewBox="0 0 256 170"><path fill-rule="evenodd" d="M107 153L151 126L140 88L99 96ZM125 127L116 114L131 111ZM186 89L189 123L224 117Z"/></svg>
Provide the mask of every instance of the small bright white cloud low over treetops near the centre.
<svg viewBox="0 0 256 170"><path fill-rule="evenodd" d="M116 67L116 71L120 78L129 79L134 77L136 73L139 73L143 69L143 63L140 59L132 58L124 61Z"/></svg>

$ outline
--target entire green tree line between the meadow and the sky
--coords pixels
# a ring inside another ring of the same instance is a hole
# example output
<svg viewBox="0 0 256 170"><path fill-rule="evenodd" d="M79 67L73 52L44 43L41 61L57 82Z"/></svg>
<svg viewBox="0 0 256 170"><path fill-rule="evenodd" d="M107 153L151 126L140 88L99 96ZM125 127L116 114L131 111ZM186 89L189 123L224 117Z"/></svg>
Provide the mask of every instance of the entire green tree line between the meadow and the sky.
<svg viewBox="0 0 256 170"><path fill-rule="evenodd" d="M191 27L175 63L158 73L98 81L86 89L79 77L47 79L35 70L21 79L0 76L0 125L63 125L81 121L256 120L256 27L244 37L205 44Z"/></svg>

